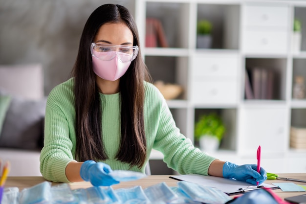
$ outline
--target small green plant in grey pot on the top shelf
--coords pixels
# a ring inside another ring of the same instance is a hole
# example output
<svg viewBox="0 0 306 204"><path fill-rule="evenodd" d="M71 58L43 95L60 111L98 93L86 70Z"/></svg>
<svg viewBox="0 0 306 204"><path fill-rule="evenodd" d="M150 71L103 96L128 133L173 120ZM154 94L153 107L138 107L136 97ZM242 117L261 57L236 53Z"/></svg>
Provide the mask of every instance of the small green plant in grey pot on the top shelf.
<svg viewBox="0 0 306 204"><path fill-rule="evenodd" d="M211 48L213 25L207 20L197 22L197 48Z"/></svg>

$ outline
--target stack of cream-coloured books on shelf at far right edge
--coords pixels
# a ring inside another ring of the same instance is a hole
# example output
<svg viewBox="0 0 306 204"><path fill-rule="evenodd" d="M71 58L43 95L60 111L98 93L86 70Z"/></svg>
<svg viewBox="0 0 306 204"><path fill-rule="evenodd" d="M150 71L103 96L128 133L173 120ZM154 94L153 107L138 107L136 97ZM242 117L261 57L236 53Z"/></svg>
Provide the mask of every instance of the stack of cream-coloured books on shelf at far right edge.
<svg viewBox="0 0 306 204"><path fill-rule="evenodd" d="M294 149L306 149L306 127L291 127L290 147Z"/></svg>

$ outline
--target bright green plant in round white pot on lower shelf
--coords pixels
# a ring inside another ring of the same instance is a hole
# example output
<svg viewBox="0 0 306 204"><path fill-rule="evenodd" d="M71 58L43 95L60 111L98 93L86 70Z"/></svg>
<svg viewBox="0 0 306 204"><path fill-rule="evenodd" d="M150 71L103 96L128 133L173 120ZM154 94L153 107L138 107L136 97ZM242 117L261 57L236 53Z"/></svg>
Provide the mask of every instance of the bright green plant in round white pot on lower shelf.
<svg viewBox="0 0 306 204"><path fill-rule="evenodd" d="M200 149L207 152L218 150L224 132L223 121L216 113L201 115L195 124L195 139Z"/></svg>

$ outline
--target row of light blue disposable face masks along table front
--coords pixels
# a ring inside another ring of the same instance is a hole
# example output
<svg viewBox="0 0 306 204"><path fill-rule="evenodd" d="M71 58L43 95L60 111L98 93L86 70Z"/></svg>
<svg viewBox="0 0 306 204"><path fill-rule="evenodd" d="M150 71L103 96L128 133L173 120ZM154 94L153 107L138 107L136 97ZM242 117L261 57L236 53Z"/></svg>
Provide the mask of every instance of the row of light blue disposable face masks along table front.
<svg viewBox="0 0 306 204"><path fill-rule="evenodd" d="M169 187L165 182L143 189L92 186L71 190L69 184L44 181L31 188L7 188L1 204L224 204L231 197L219 189L187 181Z"/></svg>

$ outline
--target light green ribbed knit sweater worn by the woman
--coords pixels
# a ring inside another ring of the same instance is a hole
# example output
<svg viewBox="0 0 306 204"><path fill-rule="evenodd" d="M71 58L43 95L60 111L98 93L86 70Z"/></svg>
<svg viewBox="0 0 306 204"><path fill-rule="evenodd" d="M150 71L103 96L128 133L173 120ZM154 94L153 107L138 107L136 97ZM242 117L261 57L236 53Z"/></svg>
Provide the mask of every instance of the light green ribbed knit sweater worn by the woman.
<svg viewBox="0 0 306 204"><path fill-rule="evenodd" d="M44 125L44 148L40 156L40 171L44 178L55 182L69 182L65 168L75 159L76 133L73 78L55 87L49 94ZM144 122L147 138L147 160L152 148L164 155L167 165L180 174L207 175L215 158L195 148L180 134L162 94L145 82ZM120 94L102 94L102 136L109 159L103 162L121 170L143 172L141 168L115 159L120 144ZM132 148L132 147L131 147Z"/></svg>

